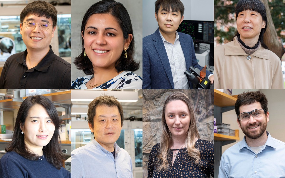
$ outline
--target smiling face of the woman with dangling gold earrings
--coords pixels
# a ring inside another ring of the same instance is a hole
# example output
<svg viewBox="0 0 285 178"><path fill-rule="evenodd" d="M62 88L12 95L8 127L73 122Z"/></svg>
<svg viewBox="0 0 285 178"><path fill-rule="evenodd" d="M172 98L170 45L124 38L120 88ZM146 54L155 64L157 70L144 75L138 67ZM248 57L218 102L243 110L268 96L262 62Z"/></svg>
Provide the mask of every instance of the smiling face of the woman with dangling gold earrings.
<svg viewBox="0 0 285 178"><path fill-rule="evenodd" d="M115 67L125 47L128 48L132 34L127 40L123 31L110 14L93 14L89 17L82 38L86 55L91 60L93 67Z"/></svg>

